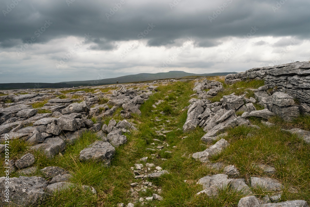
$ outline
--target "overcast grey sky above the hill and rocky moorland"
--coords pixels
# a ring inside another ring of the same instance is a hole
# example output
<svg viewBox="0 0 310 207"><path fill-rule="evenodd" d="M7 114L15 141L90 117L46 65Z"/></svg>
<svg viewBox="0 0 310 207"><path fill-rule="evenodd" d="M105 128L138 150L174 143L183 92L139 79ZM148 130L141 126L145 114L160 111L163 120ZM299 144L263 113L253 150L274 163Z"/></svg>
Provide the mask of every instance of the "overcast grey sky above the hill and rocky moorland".
<svg viewBox="0 0 310 207"><path fill-rule="evenodd" d="M0 83L310 61L309 0L1 0Z"/></svg>

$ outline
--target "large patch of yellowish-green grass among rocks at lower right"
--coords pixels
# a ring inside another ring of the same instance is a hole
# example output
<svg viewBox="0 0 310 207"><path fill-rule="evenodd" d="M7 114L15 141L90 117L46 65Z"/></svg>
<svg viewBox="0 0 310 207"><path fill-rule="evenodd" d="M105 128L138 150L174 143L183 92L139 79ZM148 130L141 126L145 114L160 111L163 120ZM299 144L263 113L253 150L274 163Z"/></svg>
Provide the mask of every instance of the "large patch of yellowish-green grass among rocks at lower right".
<svg viewBox="0 0 310 207"><path fill-rule="evenodd" d="M239 126L228 130L224 137L230 146L221 154L214 156L212 161L234 164L241 177L266 176L256 164L268 164L276 169L274 175L284 186L281 199L310 200L310 145L297 135L283 132L280 126L267 127L256 123L261 129ZM247 137L248 133L252 137ZM297 191L292 191L292 188ZM262 191L262 190L260 190ZM256 189L259 192L259 189ZM270 192L258 193L258 196Z"/></svg>

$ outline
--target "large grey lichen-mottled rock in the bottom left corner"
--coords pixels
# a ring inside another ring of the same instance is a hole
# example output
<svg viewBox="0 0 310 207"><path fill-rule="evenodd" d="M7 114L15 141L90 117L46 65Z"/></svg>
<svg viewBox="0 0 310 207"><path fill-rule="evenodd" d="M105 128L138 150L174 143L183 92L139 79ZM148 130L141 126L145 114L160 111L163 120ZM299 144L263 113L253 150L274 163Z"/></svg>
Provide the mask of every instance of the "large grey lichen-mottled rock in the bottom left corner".
<svg viewBox="0 0 310 207"><path fill-rule="evenodd" d="M0 178L0 191L5 195L5 177ZM10 178L10 201L18 206L36 206L45 200L47 194L44 192L47 180L41 177ZM0 196L0 203L5 203L5 197Z"/></svg>

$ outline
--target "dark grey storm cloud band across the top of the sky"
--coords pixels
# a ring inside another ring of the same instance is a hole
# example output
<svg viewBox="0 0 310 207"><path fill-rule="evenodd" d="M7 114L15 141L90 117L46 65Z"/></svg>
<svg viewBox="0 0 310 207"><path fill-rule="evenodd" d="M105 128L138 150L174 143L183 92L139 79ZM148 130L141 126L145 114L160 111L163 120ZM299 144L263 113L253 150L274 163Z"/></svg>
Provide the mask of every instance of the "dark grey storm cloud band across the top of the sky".
<svg viewBox="0 0 310 207"><path fill-rule="evenodd" d="M90 49L113 50L115 41L139 39L138 34L151 23L156 27L144 37L149 46L169 46L176 39L186 41L193 36L199 39L197 47L212 47L220 43L213 43L214 38L242 37L253 26L259 28L255 36L294 35L302 39L310 34L308 0L184 0L175 7L169 5L173 1L163 0L15 2L18 4L11 11L8 5L10 7L12 0L0 2L1 47L14 47L19 44L18 40L26 43L32 37L36 39L35 43L45 43L54 38L82 37L89 33L94 42ZM117 11L112 12L113 8ZM212 22L210 17L214 18ZM52 24L42 31L46 21Z"/></svg>

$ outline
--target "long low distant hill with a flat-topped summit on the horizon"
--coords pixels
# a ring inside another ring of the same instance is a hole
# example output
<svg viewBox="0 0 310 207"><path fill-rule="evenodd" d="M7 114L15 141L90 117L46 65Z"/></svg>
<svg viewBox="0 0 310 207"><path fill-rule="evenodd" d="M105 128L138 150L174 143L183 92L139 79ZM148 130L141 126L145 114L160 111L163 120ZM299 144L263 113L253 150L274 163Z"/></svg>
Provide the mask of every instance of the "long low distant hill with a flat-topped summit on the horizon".
<svg viewBox="0 0 310 207"><path fill-rule="evenodd" d="M139 73L135 75L125 75L117 78L86 80L86 81L68 81L60 83L0 83L0 90L26 89L26 88L72 88L78 86L116 84L116 81L118 81L118 83L133 83L133 82L160 80L160 79L182 78L187 76L219 76L231 73L235 74L236 72L194 74L194 73L186 73L184 71L169 71L166 73L155 73L155 74Z"/></svg>

